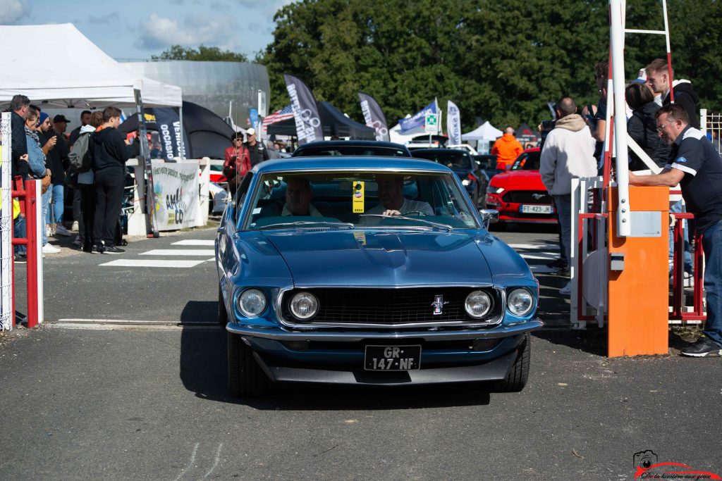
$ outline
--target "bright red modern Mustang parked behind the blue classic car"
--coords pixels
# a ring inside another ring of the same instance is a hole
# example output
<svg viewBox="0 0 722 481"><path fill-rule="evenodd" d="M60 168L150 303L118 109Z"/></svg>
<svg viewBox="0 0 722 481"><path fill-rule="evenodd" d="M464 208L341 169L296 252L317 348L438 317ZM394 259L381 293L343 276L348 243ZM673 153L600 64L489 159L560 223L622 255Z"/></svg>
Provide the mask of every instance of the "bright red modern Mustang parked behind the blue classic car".
<svg viewBox="0 0 722 481"><path fill-rule="evenodd" d="M557 224L554 201L541 183L539 175L539 147L526 149L506 172L489 181L487 208L499 211L503 228L510 222Z"/></svg>

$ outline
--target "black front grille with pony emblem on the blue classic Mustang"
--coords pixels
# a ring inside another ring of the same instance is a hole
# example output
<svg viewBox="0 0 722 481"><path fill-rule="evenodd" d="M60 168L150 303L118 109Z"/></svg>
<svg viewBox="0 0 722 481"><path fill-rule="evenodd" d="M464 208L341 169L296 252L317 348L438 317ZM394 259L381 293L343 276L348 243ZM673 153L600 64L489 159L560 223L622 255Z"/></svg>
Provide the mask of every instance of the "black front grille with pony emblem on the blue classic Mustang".
<svg viewBox="0 0 722 481"><path fill-rule="evenodd" d="M313 288L295 289L284 294L282 316L295 325L448 325L483 324L499 319L500 294L493 288L482 290L490 294L493 306L484 319L466 314L464 301L477 288ZM290 312L289 302L300 291L318 298L318 314L301 321ZM438 299L438 296L442 296ZM440 300L441 313L434 314L434 304Z"/></svg>

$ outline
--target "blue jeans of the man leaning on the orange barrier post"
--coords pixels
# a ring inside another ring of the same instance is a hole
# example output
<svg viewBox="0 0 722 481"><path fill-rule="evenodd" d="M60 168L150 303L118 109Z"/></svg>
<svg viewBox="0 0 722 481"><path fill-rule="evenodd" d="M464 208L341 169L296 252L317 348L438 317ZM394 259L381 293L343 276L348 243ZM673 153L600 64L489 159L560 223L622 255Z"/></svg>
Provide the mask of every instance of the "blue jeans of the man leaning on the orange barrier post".
<svg viewBox="0 0 722 481"><path fill-rule="evenodd" d="M703 332L722 348L722 221L716 221L705 230L702 247L707 291L707 322Z"/></svg>

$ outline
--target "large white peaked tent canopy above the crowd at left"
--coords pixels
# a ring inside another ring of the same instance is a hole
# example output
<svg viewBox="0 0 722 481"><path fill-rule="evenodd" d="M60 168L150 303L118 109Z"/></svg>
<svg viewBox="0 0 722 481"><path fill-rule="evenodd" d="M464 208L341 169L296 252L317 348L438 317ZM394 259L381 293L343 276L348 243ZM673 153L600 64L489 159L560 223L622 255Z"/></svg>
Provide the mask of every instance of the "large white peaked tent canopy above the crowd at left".
<svg viewBox="0 0 722 481"><path fill-rule="evenodd" d="M181 107L181 87L138 78L72 24L0 25L0 105L15 94L53 107Z"/></svg>

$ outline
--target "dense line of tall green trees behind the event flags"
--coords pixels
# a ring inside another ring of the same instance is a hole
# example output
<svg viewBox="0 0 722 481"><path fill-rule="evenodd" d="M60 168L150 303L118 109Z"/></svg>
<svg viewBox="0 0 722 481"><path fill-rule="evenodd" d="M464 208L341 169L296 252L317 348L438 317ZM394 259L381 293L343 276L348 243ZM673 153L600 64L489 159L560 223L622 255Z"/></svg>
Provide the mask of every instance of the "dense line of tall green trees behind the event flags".
<svg viewBox="0 0 722 481"><path fill-rule="evenodd" d="M676 78L692 81L700 107L720 111L722 5L667 4ZM274 40L256 54L271 81L271 108L288 103L284 73L353 118L371 94L390 125L434 97L458 105L464 130L536 125L547 102L599 100L594 66L609 56L606 0L305 0L274 15ZM626 27L664 30L661 1L627 2ZM627 34L625 76L666 56L663 35Z"/></svg>

